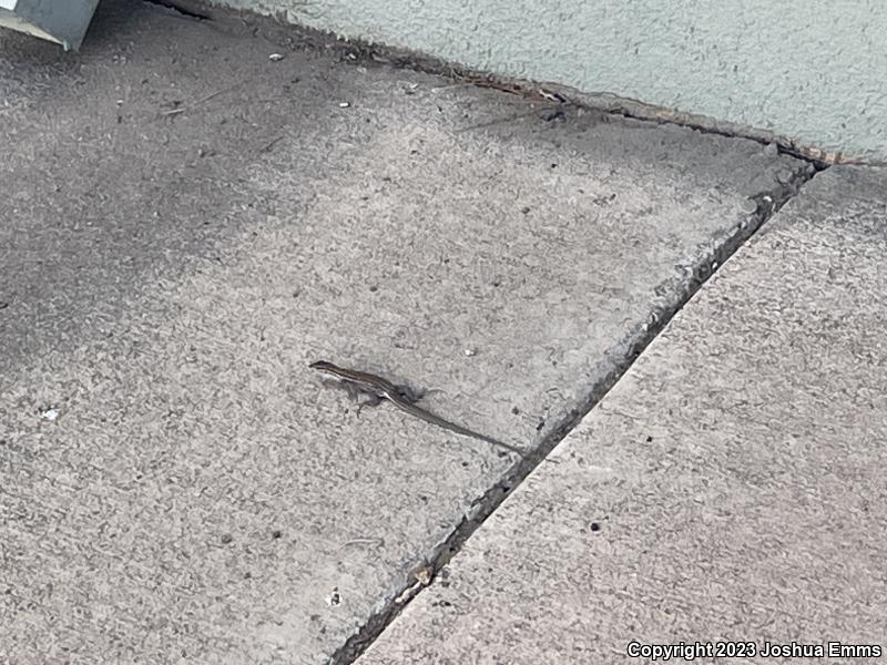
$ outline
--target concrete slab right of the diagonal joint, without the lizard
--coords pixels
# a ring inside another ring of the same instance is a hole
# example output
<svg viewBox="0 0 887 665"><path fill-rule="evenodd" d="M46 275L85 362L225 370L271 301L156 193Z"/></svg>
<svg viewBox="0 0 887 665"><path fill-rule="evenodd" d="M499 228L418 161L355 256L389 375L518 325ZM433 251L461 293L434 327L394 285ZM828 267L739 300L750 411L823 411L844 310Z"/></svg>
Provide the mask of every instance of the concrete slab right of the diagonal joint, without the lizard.
<svg viewBox="0 0 887 665"><path fill-rule="evenodd" d="M887 648L886 191L817 175L358 663Z"/></svg>

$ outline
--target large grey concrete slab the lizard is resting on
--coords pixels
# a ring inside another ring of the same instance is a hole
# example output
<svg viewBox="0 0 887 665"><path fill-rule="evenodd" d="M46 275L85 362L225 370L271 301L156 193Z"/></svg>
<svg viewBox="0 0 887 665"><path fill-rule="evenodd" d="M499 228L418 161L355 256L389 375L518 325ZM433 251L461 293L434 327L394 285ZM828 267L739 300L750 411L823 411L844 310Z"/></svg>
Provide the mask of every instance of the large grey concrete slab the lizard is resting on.
<svg viewBox="0 0 887 665"><path fill-rule="evenodd" d="M307 362L530 450L806 173L252 31L0 37L0 661L323 662L514 460Z"/></svg>

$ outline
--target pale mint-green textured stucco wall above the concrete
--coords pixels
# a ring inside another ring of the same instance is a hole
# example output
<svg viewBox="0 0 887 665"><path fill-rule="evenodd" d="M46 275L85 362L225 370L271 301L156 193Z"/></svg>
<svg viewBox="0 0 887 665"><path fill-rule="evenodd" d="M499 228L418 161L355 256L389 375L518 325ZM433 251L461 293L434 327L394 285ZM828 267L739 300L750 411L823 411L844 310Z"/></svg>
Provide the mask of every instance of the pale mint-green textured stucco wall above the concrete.
<svg viewBox="0 0 887 665"><path fill-rule="evenodd" d="M887 4L877 0L218 3L887 157Z"/></svg>

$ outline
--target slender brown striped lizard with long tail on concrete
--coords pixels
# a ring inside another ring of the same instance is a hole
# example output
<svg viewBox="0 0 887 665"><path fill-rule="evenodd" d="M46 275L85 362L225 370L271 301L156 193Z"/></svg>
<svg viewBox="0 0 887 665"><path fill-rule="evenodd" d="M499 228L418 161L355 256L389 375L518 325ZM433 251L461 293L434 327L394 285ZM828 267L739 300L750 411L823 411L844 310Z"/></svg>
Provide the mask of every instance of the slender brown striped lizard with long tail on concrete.
<svg viewBox="0 0 887 665"><path fill-rule="evenodd" d="M520 457L524 457L523 452L513 446L509 446L508 443L503 443L502 441L493 439L492 437L488 437L487 434L481 434L480 432L476 432L468 428L461 427L460 424L456 424L455 422L450 422L449 420L445 420L440 416L431 413L430 411L417 406L416 402L421 398L421 395L417 395L407 386L396 386L383 377L366 371L338 367L337 365L333 365L327 360L315 360L308 365L308 367L339 379L343 382L343 386L348 389L349 392L354 393L356 389L357 392L367 395L369 400L360 405L360 407L376 406L381 402L381 400L387 399L398 409L405 413L409 413L414 418L418 418L419 420L424 420L425 422L449 430L457 434L461 434L463 437L471 437L473 439L478 439L479 441L486 441L491 446L503 448L504 450L509 450L519 454Z"/></svg>

